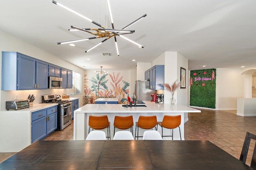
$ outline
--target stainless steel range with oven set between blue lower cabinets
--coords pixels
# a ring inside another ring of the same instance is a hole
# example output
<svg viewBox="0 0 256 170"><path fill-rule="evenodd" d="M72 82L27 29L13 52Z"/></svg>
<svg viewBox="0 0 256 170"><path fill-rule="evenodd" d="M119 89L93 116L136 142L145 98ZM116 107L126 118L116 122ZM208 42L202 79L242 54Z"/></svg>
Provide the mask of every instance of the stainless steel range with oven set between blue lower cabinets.
<svg viewBox="0 0 256 170"><path fill-rule="evenodd" d="M56 98L56 96L56 94L42 95L42 103L58 103L56 131L61 131L71 124L72 102L69 102L68 100L61 100L60 98Z"/></svg>

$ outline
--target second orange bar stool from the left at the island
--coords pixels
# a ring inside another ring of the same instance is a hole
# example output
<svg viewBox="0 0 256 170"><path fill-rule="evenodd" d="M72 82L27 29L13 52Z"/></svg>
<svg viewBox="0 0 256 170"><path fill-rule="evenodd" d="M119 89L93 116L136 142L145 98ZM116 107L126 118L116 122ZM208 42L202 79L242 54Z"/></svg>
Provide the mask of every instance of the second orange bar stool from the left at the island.
<svg viewBox="0 0 256 170"><path fill-rule="evenodd" d="M114 135L115 135L115 128L118 129L129 129L133 135L133 118L132 115L130 116L115 116L114 119Z"/></svg>

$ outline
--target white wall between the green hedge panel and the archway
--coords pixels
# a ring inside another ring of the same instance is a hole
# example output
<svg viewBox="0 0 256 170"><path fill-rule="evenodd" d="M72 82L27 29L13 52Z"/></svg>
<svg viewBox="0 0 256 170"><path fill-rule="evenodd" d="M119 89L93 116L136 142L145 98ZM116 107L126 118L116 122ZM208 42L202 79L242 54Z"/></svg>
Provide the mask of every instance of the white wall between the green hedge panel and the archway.
<svg viewBox="0 0 256 170"><path fill-rule="evenodd" d="M235 110L237 107L237 98L243 98L243 94L244 75L240 74L240 69L216 69L217 110Z"/></svg>

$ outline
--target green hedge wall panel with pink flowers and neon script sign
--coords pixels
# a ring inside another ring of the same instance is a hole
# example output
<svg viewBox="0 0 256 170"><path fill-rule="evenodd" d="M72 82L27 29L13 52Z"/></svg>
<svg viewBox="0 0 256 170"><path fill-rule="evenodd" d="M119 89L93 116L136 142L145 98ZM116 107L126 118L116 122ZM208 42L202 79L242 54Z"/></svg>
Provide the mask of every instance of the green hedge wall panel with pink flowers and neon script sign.
<svg viewBox="0 0 256 170"><path fill-rule="evenodd" d="M216 108L216 69L190 71L190 106Z"/></svg>

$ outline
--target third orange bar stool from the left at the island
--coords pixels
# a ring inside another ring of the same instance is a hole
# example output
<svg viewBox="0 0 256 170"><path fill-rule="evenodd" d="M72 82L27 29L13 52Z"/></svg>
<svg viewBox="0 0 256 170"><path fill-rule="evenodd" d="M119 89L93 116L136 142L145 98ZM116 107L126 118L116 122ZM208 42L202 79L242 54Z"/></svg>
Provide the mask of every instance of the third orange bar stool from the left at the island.
<svg viewBox="0 0 256 170"><path fill-rule="evenodd" d="M139 136L139 127L141 129L156 129L156 125L157 125L157 120L156 120L156 116L140 116L138 121L136 122L136 127L135 127L135 137L134 139L136 139L136 129L137 129L137 140L139 137L143 137L143 136Z"/></svg>

